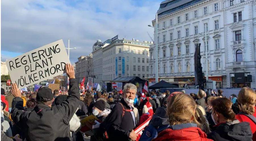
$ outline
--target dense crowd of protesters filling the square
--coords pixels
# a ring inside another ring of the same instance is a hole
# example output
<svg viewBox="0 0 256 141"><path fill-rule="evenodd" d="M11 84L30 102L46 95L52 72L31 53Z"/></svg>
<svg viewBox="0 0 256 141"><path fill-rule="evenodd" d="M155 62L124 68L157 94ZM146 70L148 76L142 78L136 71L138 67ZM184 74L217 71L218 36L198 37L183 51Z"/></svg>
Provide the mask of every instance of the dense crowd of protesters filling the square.
<svg viewBox="0 0 256 141"><path fill-rule="evenodd" d="M222 90L141 93L131 83L121 91L81 92L73 66L66 64L66 73L64 92L21 93L15 83L7 95L1 89L1 140L82 141L80 121L93 115L92 141L256 141L256 93L248 87L229 98Z"/></svg>

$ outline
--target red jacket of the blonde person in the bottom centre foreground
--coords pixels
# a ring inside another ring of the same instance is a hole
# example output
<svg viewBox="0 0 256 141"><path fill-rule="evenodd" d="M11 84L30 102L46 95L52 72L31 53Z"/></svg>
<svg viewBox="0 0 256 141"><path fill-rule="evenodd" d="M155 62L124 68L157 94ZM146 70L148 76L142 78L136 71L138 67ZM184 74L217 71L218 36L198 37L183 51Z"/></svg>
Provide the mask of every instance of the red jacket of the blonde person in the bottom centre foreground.
<svg viewBox="0 0 256 141"><path fill-rule="evenodd" d="M160 132L152 141L213 141L207 138L205 132L198 127L189 127L180 130L170 128Z"/></svg>

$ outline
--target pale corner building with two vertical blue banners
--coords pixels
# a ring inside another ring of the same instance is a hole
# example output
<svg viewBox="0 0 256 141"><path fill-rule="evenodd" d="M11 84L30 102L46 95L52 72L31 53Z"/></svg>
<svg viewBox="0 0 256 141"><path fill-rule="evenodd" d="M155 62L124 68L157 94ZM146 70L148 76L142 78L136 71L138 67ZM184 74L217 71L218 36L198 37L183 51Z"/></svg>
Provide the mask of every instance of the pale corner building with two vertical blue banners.
<svg viewBox="0 0 256 141"><path fill-rule="evenodd" d="M97 49L93 47L94 83L109 83L117 77L149 76L149 45L153 42L118 37L107 41L107 45L104 42Z"/></svg>

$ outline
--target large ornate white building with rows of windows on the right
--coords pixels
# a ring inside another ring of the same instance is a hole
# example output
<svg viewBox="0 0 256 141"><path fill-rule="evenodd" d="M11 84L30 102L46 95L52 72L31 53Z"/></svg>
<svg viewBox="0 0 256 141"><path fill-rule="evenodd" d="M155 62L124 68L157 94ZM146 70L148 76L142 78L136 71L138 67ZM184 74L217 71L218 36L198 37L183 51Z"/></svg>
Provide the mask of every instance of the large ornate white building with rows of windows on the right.
<svg viewBox="0 0 256 141"><path fill-rule="evenodd" d="M180 87L193 84L196 43L201 43L201 63L205 73L206 27L209 79L215 80L219 88L232 87L232 73L246 72L245 75L253 76L253 82L250 84L256 87L255 3L255 0L163 1L157 11L160 29L157 35L160 80L178 83ZM155 25L155 20L152 24ZM153 74L151 77L154 77L155 45L152 45L149 51L150 73ZM242 60L240 56L243 56ZM153 78L149 79L149 82L151 81Z"/></svg>

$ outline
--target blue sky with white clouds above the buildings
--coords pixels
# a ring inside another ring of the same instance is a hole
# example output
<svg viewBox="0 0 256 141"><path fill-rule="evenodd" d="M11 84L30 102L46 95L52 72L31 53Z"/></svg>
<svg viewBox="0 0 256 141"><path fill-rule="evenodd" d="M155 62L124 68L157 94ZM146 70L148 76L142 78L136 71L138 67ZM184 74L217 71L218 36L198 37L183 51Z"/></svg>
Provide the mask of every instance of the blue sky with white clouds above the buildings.
<svg viewBox="0 0 256 141"><path fill-rule="evenodd" d="M147 31L155 18L159 0L2 0L1 61L63 39L70 38L70 61L88 55L100 37L115 35L150 41Z"/></svg>

